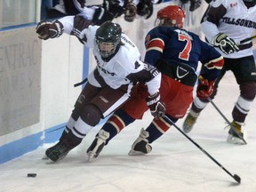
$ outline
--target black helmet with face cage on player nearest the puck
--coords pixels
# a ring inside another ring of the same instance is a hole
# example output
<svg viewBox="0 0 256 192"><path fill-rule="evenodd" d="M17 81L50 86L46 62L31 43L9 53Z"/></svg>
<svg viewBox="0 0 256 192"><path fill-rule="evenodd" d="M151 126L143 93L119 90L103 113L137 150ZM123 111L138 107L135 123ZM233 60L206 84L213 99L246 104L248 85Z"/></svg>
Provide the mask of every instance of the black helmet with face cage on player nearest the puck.
<svg viewBox="0 0 256 192"><path fill-rule="evenodd" d="M104 22L96 31L96 44L102 58L108 58L116 53L121 42L122 28L111 21Z"/></svg>

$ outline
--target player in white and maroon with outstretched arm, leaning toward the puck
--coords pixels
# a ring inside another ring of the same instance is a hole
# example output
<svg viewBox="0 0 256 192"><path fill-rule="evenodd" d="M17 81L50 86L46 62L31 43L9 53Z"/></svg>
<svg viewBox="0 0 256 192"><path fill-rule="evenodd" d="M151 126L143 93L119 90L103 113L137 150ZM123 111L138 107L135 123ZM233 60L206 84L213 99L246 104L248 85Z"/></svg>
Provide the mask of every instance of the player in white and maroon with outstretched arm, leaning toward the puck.
<svg viewBox="0 0 256 192"><path fill-rule="evenodd" d="M67 156L86 134L116 108L129 99L132 87L140 82L148 87L148 107L157 116L160 102L161 73L140 61L135 44L122 33L119 24L106 21L100 27L89 25L81 15L67 16L52 22L41 22L36 33L41 39L59 37L63 32L76 35L92 48L97 67L89 74L84 90L76 100L75 108L60 141L45 151L53 162ZM161 104L162 105L162 104Z"/></svg>

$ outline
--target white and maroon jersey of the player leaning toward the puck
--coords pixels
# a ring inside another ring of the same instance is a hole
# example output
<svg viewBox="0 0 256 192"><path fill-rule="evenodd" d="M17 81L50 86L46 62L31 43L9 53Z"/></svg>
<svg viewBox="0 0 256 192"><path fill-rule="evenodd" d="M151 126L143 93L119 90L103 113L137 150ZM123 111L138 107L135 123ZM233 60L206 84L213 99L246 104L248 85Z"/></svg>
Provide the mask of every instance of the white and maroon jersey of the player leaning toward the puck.
<svg viewBox="0 0 256 192"><path fill-rule="evenodd" d="M64 32L71 34L76 31L73 28L74 16L67 16L59 21L64 26ZM124 84L136 84L138 82L148 86L150 95L158 92L161 82L161 74L158 70L140 60L140 52L132 40L124 33L121 36L122 45L116 54L108 61L102 60L99 48L95 43L96 30L99 26L89 26L80 31L78 39L88 48L92 48L92 53L97 62L96 68L88 76L90 84L101 87L100 81L95 74L100 74L104 83L113 89L117 89ZM81 30L81 28L79 28Z"/></svg>

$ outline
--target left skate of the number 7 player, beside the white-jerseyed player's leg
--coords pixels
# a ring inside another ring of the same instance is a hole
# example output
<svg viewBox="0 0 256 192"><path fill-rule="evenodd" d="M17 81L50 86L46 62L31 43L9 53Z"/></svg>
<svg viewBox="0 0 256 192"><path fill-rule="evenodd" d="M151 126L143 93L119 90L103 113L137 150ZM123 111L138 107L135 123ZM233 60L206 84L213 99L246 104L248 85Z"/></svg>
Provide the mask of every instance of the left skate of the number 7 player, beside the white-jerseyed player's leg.
<svg viewBox="0 0 256 192"><path fill-rule="evenodd" d="M93 140L92 145L87 149L88 161L92 161L92 159L95 159L100 155L100 152L104 148L108 138L109 132L100 130L98 136Z"/></svg>

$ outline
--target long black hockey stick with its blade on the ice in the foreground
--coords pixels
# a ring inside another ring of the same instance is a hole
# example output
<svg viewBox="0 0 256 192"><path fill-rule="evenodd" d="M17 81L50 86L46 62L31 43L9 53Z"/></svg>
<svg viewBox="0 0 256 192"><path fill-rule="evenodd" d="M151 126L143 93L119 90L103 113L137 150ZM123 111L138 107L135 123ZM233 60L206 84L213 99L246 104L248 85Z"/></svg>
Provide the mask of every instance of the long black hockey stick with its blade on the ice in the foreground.
<svg viewBox="0 0 256 192"><path fill-rule="evenodd" d="M225 167L223 167L216 159L214 159L209 153L207 153L207 152L204 150L204 148L201 148L201 147L196 143L196 141L194 141L194 140L192 140L190 137L188 137L188 135L187 135L185 132L182 132L182 131L180 130L180 128L179 128L176 124L174 124L174 123L172 122L172 120L171 120L168 116L164 116L164 119L167 120L167 121L169 122L169 124L172 124L179 132L181 132L181 133L182 133L188 140L190 140L194 145L196 145L196 147L199 148L206 156L208 156L209 158L211 158L212 161L213 161L215 164L218 164L218 165L220 166L220 168L221 168L222 170L224 170L225 172L227 172L234 180L236 180L236 182L238 182L239 184L241 183L241 178L240 178L238 175L236 175L236 174L232 175L230 172L228 172L228 170L227 170Z"/></svg>

